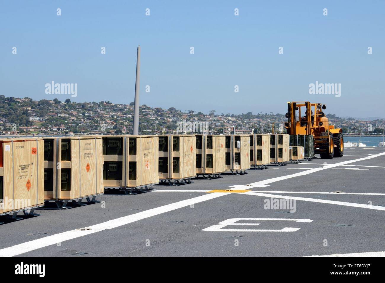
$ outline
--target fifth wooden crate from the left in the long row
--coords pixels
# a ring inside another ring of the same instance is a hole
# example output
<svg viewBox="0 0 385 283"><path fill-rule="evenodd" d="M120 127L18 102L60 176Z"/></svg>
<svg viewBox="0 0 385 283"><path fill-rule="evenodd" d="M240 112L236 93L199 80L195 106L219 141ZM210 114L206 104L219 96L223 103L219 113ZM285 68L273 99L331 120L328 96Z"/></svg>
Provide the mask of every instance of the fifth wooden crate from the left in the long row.
<svg viewBox="0 0 385 283"><path fill-rule="evenodd" d="M226 171L225 137L196 135L196 173L216 175Z"/></svg>

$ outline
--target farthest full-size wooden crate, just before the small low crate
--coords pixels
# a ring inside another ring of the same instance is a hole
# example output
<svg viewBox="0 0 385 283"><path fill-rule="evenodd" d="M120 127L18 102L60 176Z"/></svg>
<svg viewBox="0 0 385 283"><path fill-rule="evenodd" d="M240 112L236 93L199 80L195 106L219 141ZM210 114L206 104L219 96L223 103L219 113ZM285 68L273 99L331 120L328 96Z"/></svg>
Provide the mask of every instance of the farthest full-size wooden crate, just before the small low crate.
<svg viewBox="0 0 385 283"><path fill-rule="evenodd" d="M271 134L270 135L270 162L284 165L290 161L289 157L289 135Z"/></svg>

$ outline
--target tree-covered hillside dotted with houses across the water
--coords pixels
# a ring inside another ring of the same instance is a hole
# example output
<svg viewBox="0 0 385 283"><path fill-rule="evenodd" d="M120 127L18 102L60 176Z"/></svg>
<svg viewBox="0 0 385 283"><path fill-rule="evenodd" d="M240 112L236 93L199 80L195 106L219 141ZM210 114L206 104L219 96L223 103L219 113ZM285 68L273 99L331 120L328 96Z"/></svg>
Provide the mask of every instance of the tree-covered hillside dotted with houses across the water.
<svg viewBox="0 0 385 283"><path fill-rule="evenodd" d="M0 134L2 135L72 135L72 134L130 134L134 102L114 104L110 101L71 102L29 97L5 97L0 95ZM200 123L208 125L209 133L228 133L235 127L237 134L275 131L286 121L285 114L256 113L224 114L194 110L164 109L141 105L139 109L139 133L161 134L180 132L178 125ZM382 134L383 119L361 121L326 115L332 124L341 127L345 134ZM183 132L200 131L201 128L183 128Z"/></svg>

